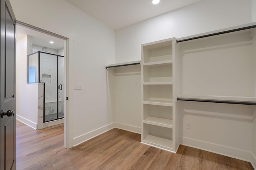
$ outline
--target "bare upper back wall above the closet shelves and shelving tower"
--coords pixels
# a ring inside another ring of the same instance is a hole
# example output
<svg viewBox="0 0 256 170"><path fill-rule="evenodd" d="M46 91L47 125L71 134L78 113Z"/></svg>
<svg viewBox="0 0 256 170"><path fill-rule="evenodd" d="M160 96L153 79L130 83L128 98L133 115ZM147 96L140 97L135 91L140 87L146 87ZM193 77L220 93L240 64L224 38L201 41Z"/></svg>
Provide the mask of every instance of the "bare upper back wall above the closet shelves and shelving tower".
<svg viewBox="0 0 256 170"><path fill-rule="evenodd" d="M116 63L140 60L140 45L251 22L251 0L204 0L116 30Z"/></svg>

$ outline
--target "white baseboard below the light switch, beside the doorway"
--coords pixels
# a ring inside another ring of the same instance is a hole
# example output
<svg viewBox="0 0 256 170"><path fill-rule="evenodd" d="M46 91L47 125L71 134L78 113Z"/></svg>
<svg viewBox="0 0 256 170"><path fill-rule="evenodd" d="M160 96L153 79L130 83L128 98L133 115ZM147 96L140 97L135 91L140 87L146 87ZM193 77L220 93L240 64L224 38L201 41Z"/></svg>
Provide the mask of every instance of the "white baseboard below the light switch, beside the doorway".
<svg viewBox="0 0 256 170"><path fill-rule="evenodd" d="M105 133L106 131L109 131L111 129L113 129L115 127L115 123L110 123L109 125L106 125L106 126L103 126L103 127L100 127L96 130L93 130L93 131L90 131L88 133L85 133L84 135L80 135L78 137L75 137L73 139L73 143L74 143L74 147L76 145L79 145L85 141L88 141L102 133Z"/></svg>

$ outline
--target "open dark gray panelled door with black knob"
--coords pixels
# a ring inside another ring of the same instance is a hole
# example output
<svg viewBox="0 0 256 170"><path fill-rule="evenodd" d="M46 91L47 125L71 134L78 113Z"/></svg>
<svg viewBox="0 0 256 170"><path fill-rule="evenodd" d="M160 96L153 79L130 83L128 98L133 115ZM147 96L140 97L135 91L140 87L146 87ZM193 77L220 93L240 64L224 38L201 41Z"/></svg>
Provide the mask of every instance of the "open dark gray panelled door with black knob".
<svg viewBox="0 0 256 170"><path fill-rule="evenodd" d="M0 170L15 170L16 24L9 0L1 0L0 15Z"/></svg>

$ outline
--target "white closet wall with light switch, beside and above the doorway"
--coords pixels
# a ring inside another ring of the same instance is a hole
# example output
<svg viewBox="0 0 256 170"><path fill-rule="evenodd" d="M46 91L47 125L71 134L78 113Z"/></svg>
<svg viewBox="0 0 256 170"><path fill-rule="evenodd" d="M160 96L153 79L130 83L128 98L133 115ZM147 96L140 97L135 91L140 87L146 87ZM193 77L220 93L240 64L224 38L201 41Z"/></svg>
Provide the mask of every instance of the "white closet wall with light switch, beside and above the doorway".
<svg viewBox="0 0 256 170"><path fill-rule="evenodd" d="M64 0L10 2L17 20L69 38L68 147L93 137L91 131L114 124L104 88L104 65L114 63L114 30ZM74 90L74 82L83 83L83 89Z"/></svg>

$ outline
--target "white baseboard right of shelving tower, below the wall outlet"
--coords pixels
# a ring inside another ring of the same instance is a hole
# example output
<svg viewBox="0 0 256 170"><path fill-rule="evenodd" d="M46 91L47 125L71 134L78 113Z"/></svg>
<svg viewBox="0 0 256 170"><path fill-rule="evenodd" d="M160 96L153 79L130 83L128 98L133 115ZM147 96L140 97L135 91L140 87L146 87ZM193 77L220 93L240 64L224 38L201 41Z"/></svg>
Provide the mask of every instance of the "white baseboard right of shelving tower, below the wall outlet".
<svg viewBox="0 0 256 170"><path fill-rule="evenodd" d="M252 152L246 150L235 149L205 141L198 141L186 137L180 137L180 144L248 162L251 162L252 160Z"/></svg>

